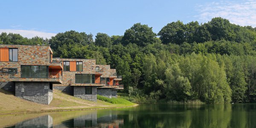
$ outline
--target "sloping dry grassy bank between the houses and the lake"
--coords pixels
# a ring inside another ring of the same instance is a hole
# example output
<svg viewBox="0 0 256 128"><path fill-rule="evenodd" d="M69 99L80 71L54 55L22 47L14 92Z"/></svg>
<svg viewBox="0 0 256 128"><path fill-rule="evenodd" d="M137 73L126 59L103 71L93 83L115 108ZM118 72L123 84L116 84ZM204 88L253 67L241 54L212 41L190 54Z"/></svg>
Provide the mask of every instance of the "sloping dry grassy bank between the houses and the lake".
<svg viewBox="0 0 256 128"><path fill-rule="evenodd" d="M41 105L34 102L29 102L14 96L6 90L0 89L0 115L17 114L17 113L40 113L52 111L75 111L75 110L90 110L90 109L106 109L106 108L123 108L137 104L131 103L123 99L123 103L110 103L102 100L92 102L66 93L59 90L53 90L53 100L49 105ZM122 100L122 99L114 99Z"/></svg>

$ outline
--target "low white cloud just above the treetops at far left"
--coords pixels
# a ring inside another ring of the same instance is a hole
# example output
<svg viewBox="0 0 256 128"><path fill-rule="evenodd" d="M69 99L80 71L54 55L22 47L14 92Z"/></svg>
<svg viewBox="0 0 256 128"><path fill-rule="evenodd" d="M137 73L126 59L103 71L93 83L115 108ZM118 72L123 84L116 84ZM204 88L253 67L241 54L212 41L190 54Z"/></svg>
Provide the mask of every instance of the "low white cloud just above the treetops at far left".
<svg viewBox="0 0 256 128"><path fill-rule="evenodd" d="M40 32L40 31L34 31L34 30L20 30L20 29L0 29L0 33L2 32L17 33L26 38L32 38L35 36L42 37L42 38L51 38L52 36L56 35L55 33Z"/></svg>

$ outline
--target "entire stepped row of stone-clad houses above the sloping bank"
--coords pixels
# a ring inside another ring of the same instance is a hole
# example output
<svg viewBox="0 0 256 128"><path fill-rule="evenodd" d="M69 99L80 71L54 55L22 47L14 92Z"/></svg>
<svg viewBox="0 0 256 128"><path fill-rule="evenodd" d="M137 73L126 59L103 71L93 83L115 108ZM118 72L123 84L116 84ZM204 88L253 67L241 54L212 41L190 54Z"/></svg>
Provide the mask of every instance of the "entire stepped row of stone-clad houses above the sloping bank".
<svg viewBox="0 0 256 128"><path fill-rule="evenodd" d="M49 46L0 45L0 88L32 102L49 105L53 88L90 101L116 97L120 80L95 59L52 58Z"/></svg>

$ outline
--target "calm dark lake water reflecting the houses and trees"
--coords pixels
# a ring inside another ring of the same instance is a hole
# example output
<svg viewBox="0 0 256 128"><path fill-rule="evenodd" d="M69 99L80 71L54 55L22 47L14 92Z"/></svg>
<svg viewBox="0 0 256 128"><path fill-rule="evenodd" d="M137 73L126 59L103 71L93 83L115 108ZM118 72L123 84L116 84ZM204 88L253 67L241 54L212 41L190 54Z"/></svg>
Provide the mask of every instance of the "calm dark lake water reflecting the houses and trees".
<svg viewBox="0 0 256 128"><path fill-rule="evenodd" d="M133 108L0 116L9 128L256 128L256 104Z"/></svg>

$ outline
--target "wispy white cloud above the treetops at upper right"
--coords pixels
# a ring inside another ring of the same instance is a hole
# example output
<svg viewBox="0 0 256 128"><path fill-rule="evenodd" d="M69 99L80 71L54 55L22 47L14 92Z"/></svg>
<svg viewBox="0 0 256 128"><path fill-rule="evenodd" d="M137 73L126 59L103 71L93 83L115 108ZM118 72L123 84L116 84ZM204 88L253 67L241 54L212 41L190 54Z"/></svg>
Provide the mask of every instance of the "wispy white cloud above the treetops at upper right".
<svg viewBox="0 0 256 128"><path fill-rule="evenodd" d="M207 22L213 17L223 17L241 26L256 27L256 1L241 0L220 1L201 4L196 7L199 15L195 17L200 22Z"/></svg>

